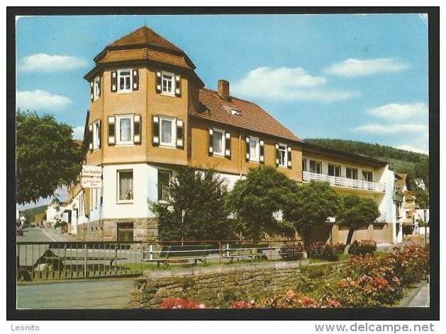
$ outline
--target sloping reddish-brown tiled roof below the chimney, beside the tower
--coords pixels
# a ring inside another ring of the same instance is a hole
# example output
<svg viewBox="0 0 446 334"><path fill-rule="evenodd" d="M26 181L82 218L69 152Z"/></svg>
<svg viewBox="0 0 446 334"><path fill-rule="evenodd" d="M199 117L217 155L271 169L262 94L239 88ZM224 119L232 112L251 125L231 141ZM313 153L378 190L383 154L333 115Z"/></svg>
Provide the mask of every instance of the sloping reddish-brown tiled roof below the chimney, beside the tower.
<svg viewBox="0 0 446 334"><path fill-rule="evenodd" d="M233 96L223 99L216 91L206 88L200 89L199 98L201 104L204 105L204 111L192 113L193 116L257 133L274 135L286 140L301 141L299 137L257 104ZM233 114L231 110L238 111L238 113Z"/></svg>

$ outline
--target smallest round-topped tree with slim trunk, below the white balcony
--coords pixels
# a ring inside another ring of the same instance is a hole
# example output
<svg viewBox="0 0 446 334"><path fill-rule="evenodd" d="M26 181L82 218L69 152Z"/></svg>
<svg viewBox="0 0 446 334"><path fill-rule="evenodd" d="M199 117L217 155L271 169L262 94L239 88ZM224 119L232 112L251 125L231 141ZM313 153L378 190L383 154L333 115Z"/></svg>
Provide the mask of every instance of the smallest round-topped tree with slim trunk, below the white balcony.
<svg viewBox="0 0 446 334"><path fill-rule="evenodd" d="M379 217L377 203L373 199L364 199L357 195L342 197L342 208L338 216L341 226L349 228L345 245L350 245L353 233L360 226L369 225Z"/></svg>

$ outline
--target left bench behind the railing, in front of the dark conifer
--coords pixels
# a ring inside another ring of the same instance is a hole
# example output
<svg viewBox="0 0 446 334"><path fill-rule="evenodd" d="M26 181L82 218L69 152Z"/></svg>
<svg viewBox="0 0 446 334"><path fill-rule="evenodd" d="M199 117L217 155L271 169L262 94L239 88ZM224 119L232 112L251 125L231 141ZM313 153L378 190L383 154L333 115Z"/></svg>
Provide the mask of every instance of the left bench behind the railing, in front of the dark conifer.
<svg viewBox="0 0 446 334"><path fill-rule="evenodd" d="M157 267L160 267L160 263L169 265L169 262L175 260L192 260L197 265L198 262L206 263L206 257L212 248L212 245L165 245L161 250L155 250L154 245L149 245L148 250L143 250L143 262L156 262Z"/></svg>

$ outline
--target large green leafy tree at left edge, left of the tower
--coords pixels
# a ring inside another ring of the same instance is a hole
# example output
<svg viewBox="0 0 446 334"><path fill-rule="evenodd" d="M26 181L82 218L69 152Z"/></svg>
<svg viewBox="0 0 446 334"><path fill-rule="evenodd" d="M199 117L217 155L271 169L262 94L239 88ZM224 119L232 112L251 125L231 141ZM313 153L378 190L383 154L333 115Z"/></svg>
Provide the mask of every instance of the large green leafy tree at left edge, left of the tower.
<svg viewBox="0 0 446 334"><path fill-rule="evenodd" d="M75 182L84 152L73 130L50 115L16 113L17 202L25 204L54 195L58 187Z"/></svg>

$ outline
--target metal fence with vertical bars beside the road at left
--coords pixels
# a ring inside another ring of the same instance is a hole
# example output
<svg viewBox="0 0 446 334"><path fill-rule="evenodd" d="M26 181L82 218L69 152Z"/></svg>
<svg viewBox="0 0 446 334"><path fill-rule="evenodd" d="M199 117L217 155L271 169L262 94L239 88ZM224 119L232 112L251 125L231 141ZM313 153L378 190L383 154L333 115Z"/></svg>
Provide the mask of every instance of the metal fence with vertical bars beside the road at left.
<svg viewBox="0 0 446 334"><path fill-rule="evenodd" d="M88 279L142 273L140 242L18 242L17 280Z"/></svg>

